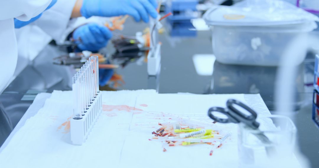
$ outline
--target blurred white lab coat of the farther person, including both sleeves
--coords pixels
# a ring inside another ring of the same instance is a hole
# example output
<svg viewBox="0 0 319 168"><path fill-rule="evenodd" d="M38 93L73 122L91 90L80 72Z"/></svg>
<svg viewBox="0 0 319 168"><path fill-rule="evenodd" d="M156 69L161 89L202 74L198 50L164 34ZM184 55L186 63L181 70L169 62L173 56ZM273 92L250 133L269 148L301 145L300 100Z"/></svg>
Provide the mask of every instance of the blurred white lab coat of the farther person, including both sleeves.
<svg viewBox="0 0 319 168"><path fill-rule="evenodd" d="M63 44L67 36L77 27L86 23L104 24L108 18L90 17L85 19L79 17L70 19L76 0L58 0L56 4L43 12L42 16L35 22L16 29L18 40L18 66L15 70L12 80L21 73L21 71L52 40L57 44ZM52 54L42 51L41 54Z"/></svg>

